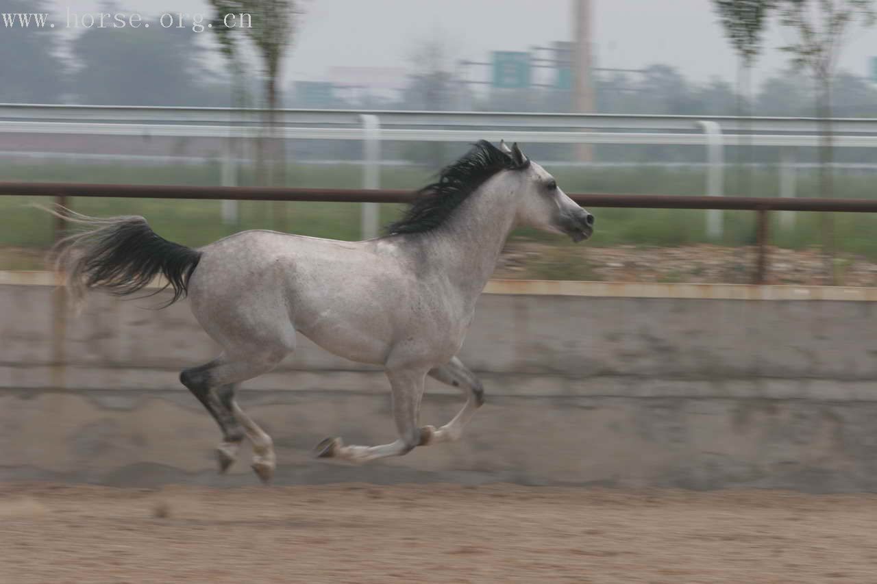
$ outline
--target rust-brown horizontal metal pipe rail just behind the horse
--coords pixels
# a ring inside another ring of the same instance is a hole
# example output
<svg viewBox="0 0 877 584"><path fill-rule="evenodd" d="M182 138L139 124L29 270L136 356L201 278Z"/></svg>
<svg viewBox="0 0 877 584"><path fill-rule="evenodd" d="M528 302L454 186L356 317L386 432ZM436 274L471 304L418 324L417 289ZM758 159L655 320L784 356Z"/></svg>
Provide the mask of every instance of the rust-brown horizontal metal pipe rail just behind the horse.
<svg viewBox="0 0 877 584"><path fill-rule="evenodd" d="M392 189L288 189L275 187L203 187L182 185L83 184L72 182L0 182L0 196L54 196L66 203L71 196L239 201L330 201L335 203L410 203L414 192ZM877 200L793 199L745 196L616 195L574 193L587 207L635 209L721 209L758 212L758 265L755 281L765 281L768 211L831 211L873 213ZM59 225L59 230L62 225Z"/></svg>

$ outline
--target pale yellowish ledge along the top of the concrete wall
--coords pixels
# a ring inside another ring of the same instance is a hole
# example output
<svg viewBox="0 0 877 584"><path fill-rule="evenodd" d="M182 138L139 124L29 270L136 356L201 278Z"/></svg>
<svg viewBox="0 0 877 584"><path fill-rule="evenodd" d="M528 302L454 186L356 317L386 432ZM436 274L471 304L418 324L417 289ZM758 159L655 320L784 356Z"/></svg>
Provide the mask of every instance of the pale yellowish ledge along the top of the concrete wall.
<svg viewBox="0 0 877 584"><path fill-rule="evenodd" d="M51 272L0 271L0 285L55 286ZM157 279L151 287L163 285ZM754 286L751 284L667 284L660 282L491 280L486 294L592 296L602 298L688 298L702 300L834 300L877 302L877 288L844 286Z"/></svg>

